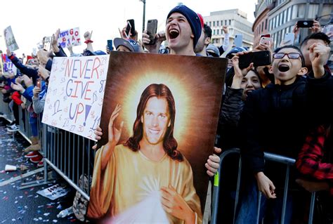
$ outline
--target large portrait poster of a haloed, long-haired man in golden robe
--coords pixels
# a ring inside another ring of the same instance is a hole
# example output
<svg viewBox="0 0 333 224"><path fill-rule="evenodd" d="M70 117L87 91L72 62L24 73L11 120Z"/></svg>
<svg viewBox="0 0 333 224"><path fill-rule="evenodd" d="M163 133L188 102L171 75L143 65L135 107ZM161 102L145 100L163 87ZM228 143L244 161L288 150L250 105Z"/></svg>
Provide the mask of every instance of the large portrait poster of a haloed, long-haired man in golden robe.
<svg viewBox="0 0 333 224"><path fill-rule="evenodd" d="M89 218L183 223L163 209L171 202L162 197L177 195L179 211L189 207L202 222L226 65L226 58L110 53Z"/></svg>

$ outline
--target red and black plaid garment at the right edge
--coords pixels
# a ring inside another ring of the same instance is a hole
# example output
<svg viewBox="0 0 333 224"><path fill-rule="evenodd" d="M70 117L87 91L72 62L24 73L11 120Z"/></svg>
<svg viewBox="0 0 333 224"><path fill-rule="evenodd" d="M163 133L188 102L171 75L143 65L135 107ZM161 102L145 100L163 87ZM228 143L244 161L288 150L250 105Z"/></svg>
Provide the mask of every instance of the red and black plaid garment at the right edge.
<svg viewBox="0 0 333 224"><path fill-rule="evenodd" d="M319 126L306 137L306 142L296 159L296 168L303 175L312 176L317 180L330 183L329 192L333 195L333 164L323 163L324 143L327 138L327 128Z"/></svg>

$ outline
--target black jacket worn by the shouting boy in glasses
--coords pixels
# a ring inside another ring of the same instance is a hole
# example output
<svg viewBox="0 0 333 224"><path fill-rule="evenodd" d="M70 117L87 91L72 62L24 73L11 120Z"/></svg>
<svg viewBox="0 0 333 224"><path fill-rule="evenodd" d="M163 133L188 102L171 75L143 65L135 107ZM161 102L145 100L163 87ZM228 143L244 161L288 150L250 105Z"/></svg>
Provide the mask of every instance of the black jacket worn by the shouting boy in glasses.
<svg viewBox="0 0 333 224"><path fill-rule="evenodd" d="M288 86L269 84L252 92L240 117L245 166L264 171L263 152L296 158L308 129L332 113L332 80L326 72L321 79L298 77Z"/></svg>

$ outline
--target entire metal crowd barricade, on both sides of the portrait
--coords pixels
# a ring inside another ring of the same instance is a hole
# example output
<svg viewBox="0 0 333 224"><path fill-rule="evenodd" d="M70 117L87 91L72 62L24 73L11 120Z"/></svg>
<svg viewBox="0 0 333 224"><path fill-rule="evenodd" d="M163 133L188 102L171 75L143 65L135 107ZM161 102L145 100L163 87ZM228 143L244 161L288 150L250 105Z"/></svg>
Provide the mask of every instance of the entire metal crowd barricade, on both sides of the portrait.
<svg viewBox="0 0 333 224"><path fill-rule="evenodd" d="M30 103L27 103L27 107L30 106ZM4 103L3 100L0 100L0 112L5 114L5 117L8 121L13 120L12 112L8 108L8 103ZM19 107L19 117L20 117L20 134L26 138L30 143L30 137L32 136L32 128L30 125L29 117L30 112L27 110L22 110ZM95 143L92 140L78 136L74 133L68 131L63 131L57 129L53 126L48 126L41 123L41 117L37 117L37 126L39 130L39 140L41 144L42 154L44 156L44 178L42 180L35 180L29 183L22 183L21 189L34 187L38 185L44 185L51 183L48 180L48 166L50 166L54 171L56 171L62 178L65 179L75 190L77 190L84 198L89 201L90 185L89 189L84 189L84 186L79 186L79 178L81 175L86 175L89 183L91 183L91 176L93 171L93 162L94 162L94 151L91 150L92 145ZM13 134L14 135L14 134ZM223 152L221 154L220 168L218 173L222 171L222 165L225 162L225 158L230 154L240 154L239 149L231 149ZM282 218L281 223L284 223L286 204L287 204L287 194L288 194L288 185L289 185L289 172L290 166L294 166L295 160L288 157L282 157L277 154L264 153L266 160L279 162L287 166L286 178L285 178L285 192L283 197L282 205ZM235 223L235 213L237 203L239 201L240 195L240 178L241 178L241 169L242 169L242 159L239 159L238 163L238 174L237 174L237 189L235 193L235 206L233 209L233 223ZM219 180L217 180L219 182ZM214 181L215 182L215 181ZM211 213L211 223L217 223L218 215L218 199L220 194L220 187L215 185L213 190L213 200L212 200L212 213ZM258 208L260 208L261 202L261 192L258 195ZM311 207L310 207L310 216L308 223L313 222L313 211L315 205L315 192L311 195ZM259 223L259 209L257 212L257 222Z"/></svg>

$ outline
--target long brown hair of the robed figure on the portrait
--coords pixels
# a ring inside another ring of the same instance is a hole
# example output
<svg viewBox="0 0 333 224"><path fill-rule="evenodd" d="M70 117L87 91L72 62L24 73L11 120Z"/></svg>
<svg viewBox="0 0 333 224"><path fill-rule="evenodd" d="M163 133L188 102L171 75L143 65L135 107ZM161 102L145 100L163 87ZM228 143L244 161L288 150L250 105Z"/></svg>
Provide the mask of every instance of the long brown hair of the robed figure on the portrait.
<svg viewBox="0 0 333 224"><path fill-rule="evenodd" d="M163 149L171 159L183 161L183 155L177 150L178 143L174 138L174 122L176 117L175 100L168 86L164 84L150 84L141 94L140 102L136 110L136 121L133 124L133 136L131 136L124 145L134 152L140 150L139 142L143 138L143 124L141 122L141 117L143 116L145 105L152 97L165 98L168 103L170 126L166 129L164 135Z"/></svg>

